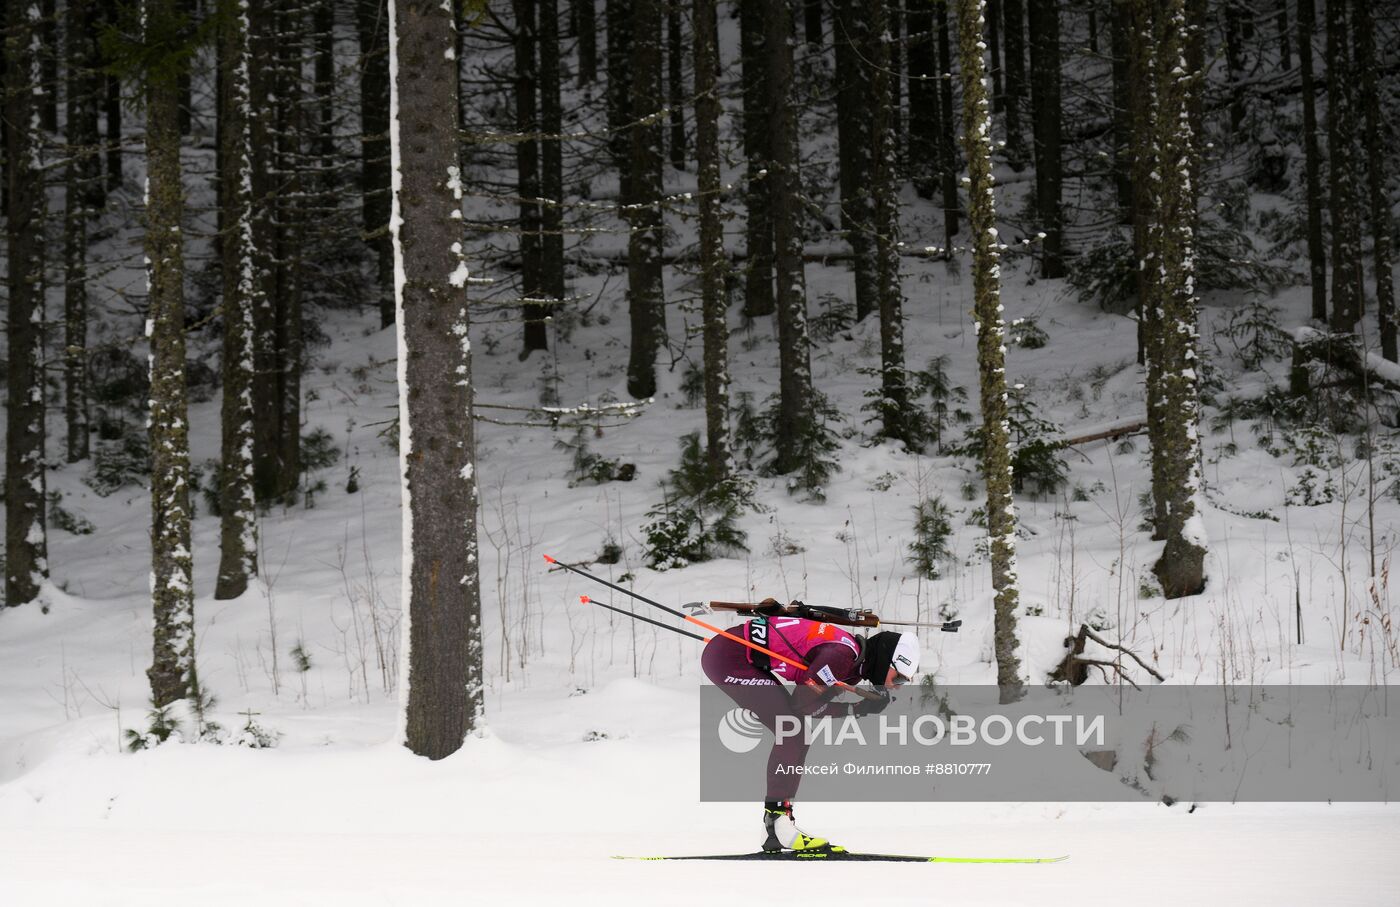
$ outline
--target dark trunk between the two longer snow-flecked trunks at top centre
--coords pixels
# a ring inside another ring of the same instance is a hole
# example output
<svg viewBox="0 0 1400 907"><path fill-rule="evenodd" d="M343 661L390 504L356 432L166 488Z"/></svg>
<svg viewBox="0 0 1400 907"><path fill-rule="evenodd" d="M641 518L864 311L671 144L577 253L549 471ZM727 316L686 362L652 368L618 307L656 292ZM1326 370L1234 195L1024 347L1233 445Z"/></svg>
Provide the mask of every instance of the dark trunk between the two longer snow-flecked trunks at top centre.
<svg viewBox="0 0 1400 907"><path fill-rule="evenodd" d="M773 294L773 175L769 171L769 74L764 38L764 6L770 0L739 0L739 49L743 64L743 157L748 270L743 280L743 316L762 318L776 309Z"/></svg>

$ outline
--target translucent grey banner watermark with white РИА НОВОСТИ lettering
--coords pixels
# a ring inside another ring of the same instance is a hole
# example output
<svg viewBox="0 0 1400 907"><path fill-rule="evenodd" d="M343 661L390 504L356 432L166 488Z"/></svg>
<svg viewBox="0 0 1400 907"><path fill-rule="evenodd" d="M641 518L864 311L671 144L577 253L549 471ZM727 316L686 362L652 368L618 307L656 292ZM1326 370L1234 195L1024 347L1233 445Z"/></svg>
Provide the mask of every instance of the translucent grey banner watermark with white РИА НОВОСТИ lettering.
<svg viewBox="0 0 1400 907"><path fill-rule="evenodd" d="M707 686L700 705L710 801L774 775L833 801L1400 798L1400 687L906 689L879 715L760 718Z"/></svg>

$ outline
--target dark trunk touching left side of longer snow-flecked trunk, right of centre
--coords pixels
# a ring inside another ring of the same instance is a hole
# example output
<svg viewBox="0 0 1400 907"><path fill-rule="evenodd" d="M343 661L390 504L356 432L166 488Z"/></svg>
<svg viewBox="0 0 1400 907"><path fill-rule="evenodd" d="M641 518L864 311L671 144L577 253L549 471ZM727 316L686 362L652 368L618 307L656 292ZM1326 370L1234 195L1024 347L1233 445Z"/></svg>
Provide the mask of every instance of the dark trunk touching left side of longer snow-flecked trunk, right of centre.
<svg viewBox="0 0 1400 907"><path fill-rule="evenodd" d="M871 41L861 0L836 0L832 8L836 50L836 146L840 157L841 231L851 246L855 321L879 308L871 235ZM931 90L930 90L931 91ZM930 147L932 151L932 147ZM932 161L928 162L932 169Z"/></svg>

